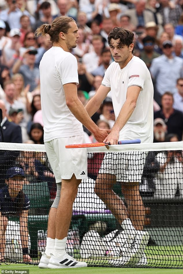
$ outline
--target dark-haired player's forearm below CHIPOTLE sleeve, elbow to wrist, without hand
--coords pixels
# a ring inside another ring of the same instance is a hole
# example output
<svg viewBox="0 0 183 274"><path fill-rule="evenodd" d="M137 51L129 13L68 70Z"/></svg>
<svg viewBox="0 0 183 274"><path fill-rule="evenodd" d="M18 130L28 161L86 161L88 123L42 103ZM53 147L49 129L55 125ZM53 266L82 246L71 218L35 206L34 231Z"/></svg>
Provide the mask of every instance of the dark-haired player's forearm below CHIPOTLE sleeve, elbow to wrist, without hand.
<svg viewBox="0 0 183 274"><path fill-rule="evenodd" d="M132 115L134 109L136 107L135 102L128 102L126 101L117 117L113 129L117 130L118 132L124 127L126 122L129 120L130 116Z"/></svg>

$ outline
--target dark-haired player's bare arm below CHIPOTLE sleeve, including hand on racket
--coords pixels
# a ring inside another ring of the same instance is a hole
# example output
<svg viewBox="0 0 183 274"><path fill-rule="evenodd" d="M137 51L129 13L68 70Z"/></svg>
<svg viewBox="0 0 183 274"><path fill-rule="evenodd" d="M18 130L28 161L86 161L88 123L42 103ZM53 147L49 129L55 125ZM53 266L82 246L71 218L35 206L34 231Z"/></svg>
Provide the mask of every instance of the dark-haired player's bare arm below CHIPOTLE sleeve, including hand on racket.
<svg viewBox="0 0 183 274"><path fill-rule="evenodd" d="M132 115L135 107L137 98L139 96L141 87L131 86L128 87L126 94L126 101L122 106L122 109L117 117L113 128L111 129L111 133L104 140L105 142L110 142L112 145L117 145L119 139L119 131L124 127L130 116Z"/></svg>

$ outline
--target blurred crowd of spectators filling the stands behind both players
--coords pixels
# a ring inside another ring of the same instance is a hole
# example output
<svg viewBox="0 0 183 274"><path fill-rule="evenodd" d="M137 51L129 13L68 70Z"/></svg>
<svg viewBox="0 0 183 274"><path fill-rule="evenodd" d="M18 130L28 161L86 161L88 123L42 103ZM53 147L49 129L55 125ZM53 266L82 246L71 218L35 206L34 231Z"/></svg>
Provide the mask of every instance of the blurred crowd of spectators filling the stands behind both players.
<svg viewBox="0 0 183 274"><path fill-rule="evenodd" d="M71 53L78 61L78 97L83 105L94 96L113 61L107 43L110 31L124 27L134 32L134 55L145 62L152 76L154 142L165 141L169 134L181 141L182 8L181 0L1 0L0 107L5 135L1 141L43 144L39 63L52 44L48 36L35 38L34 32L57 16L71 16L78 25L80 37ZM111 92L92 120L104 128L113 126ZM86 128L84 131L87 142L96 142ZM31 157L35 162L34 155ZM30 161L24 162L25 171ZM36 169L32 173L38 175Z"/></svg>

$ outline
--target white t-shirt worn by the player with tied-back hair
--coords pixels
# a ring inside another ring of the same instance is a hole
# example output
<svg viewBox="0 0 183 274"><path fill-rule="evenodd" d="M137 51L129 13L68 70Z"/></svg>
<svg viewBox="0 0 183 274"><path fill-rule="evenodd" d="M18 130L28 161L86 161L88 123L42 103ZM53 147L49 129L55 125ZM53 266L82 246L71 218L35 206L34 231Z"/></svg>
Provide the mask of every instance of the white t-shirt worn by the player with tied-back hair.
<svg viewBox="0 0 183 274"><path fill-rule="evenodd" d="M76 57L52 47L44 53L39 68L44 141L82 135L83 126L66 105L63 88L67 83L79 83Z"/></svg>

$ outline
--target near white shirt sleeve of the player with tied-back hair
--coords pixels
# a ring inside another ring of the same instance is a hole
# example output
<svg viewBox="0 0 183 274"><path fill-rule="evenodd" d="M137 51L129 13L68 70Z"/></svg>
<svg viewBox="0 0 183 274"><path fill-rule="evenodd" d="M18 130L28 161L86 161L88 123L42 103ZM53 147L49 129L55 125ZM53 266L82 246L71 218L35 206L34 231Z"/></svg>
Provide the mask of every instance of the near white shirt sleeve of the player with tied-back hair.
<svg viewBox="0 0 183 274"><path fill-rule="evenodd" d="M78 64L74 55L66 56L59 64L59 73L62 84L76 83L79 84L78 79Z"/></svg>

